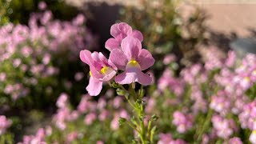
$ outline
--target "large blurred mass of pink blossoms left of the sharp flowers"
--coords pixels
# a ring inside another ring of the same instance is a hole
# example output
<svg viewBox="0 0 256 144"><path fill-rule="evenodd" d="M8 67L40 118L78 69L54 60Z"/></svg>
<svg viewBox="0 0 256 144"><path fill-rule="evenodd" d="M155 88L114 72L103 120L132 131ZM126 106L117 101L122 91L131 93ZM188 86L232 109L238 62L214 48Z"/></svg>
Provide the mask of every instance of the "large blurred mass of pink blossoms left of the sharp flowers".
<svg viewBox="0 0 256 144"><path fill-rule="evenodd" d="M86 19L82 14L64 22L54 20L51 11L46 10L46 3L40 3L39 7L40 12L30 15L28 26L9 23L0 27L1 98L16 101L25 96L34 98L62 91L54 90L62 89L61 84L67 81L60 73L62 67L77 62L79 51L85 47L96 47L97 38L84 27ZM64 82L58 80L60 75ZM76 79L81 77L78 74ZM0 105L8 104L6 100L1 102Z"/></svg>

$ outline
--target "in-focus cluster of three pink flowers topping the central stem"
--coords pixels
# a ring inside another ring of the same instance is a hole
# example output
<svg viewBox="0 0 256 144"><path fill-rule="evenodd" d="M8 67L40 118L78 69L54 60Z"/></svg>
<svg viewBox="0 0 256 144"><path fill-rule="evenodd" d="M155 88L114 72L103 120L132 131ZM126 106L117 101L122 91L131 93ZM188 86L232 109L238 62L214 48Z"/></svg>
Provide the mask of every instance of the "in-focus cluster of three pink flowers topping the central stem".
<svg viewBox="0 0 256 144"><path fill-rule="evenodd" d="M102 90L103 82L110 82L114 78L119 84L138 82L150 85L152 78L142 72L154 64L154 58L146 49L142 49L143 36L138 30L125 22L111 26L110 34L114 38L106 41L106 49L110 50L110 58L102 53L82 50L80 58L90 66L90 82L86 90L90 95L96 96ZM123 70L122 74L117 74Z"/></svg>

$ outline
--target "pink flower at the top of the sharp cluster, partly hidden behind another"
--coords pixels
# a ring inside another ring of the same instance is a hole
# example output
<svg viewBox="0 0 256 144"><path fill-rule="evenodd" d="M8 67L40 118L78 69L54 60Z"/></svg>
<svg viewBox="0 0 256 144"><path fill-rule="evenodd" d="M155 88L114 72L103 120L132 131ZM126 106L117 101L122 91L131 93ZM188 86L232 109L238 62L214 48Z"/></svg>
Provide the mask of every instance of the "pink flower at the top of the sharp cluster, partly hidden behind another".
<svg viewBox="0 0 256 144"><path fill-rule="evenodd" d="M132 28L125 22L120 22L111 26L110 34L114 38L109 38L105 44L106 49L110 51L120 49L120 44L126 36L138 38L140 42L143 41L142 33L138 30L132 30Z"/></svg>

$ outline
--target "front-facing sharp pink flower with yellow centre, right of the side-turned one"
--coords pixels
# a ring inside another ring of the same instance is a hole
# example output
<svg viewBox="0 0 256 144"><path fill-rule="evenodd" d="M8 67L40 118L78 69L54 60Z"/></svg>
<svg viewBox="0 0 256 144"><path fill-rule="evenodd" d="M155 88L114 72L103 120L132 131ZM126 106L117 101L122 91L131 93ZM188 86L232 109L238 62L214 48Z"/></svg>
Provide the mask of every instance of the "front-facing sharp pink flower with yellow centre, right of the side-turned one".
<svg viewBox="0 0 256 144"><path fill-rule="evenodd" d="M142 44L137 38L127 36L122 40L122 49L114 49L110 53L110 61L119 70L125 70L115 78L120 84L138 82L142 85L150 85L152 78L142 73L154 64L154 58L148 50L142 49Z"/></svg>

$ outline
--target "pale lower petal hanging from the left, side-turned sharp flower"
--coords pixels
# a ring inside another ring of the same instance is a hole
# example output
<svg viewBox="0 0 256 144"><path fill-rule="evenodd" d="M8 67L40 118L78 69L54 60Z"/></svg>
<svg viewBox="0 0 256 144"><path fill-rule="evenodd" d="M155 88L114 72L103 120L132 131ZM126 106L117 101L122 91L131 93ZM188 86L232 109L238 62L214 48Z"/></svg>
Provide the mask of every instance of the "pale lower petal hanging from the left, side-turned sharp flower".
<svg viewBox="0 0 256 144"><path fill-rule="evenodd" d="M86 90L91 96L97 96L102 91L102 82L96 78L90 77Z"/></svg>

